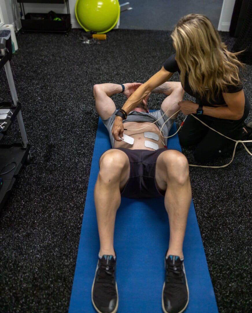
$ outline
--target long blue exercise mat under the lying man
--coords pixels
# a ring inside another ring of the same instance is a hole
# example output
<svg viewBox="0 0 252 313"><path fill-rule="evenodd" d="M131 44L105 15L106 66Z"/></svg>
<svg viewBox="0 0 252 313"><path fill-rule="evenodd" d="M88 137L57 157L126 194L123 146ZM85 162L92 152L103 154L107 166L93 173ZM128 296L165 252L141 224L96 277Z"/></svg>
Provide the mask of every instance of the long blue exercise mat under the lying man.
<svg viewBox="0 0 252 313"><path fill-rule="evenodd" d="M175 131L174 125L171 133ZM99 119L69 313L96 312L91 302L91 287L100 245L93 192L99 158L110 148L107 130ZM168 139L168 148L181 151L177 135ZM164 258L168 243L169 222L163 198L122 198L116 215L114 238L118 313L162 312ZM183 252L189 287L189 304L185 312L218 312L193 202L188 215Z"/></svg>

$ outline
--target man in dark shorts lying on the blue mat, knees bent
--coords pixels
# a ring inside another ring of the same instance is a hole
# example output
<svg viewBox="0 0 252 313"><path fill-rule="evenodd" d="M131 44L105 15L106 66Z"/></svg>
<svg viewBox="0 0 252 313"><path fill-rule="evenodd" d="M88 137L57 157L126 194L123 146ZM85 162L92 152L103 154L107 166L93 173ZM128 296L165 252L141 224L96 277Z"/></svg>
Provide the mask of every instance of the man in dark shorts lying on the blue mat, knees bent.
<svg viewBox="0 0 252 313"><path fill-rule="evenodd" d="M164 137L168 136L175 115L173 119L167 119L180 109L177 103L183 99L184 90L179 82L166 82L154 89L152 92L167 95L161 110L149 113L145 98L124 121L124 141L114 141L111 129L115 116L121 112L116 110L110 96L123 93L128 98L140 85L94 86L96 110L109 132L113 147L100 158L100 171L94 190L100 251L92 286L92 303L96 311L102 313L116 312L118 308L113 241L116 211L121 196L164 197L170 224L170 241L165 257L162 308L164 312L182 312L189 301L182 251L191 202L189 166L182 153L164 147L167 143ZM162 137L160 130L165 121L167 123L162 128Z"/></svg>

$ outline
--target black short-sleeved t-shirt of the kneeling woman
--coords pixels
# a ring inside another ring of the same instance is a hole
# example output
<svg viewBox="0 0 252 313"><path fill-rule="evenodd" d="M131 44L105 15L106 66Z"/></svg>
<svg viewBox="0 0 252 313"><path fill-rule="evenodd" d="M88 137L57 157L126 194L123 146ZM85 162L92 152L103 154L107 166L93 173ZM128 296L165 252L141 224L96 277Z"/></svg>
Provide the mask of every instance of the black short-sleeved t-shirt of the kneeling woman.
<svg viewBox="0 0 252 313"><path fill-rule="evenodd" d="M175 72L180 73L180 69L178 67L177 61L175 60L175 54L171 55L170 58L165 61L163 66L170 73L175 73ZM205 97L200 97L199 94L194 93L189 85L187 75L185 75L185 85L183 86L183 88L185 92L187 92L189 95L196 98L196 103L199 103L201 105L213 106L214 104L225 104L225 100L223 98L222 92L216 91L214 95L214 99L210 99L209 101L207 101ZM226 92L231 94L231 93L238 92L242 89L243 89L243 84L240 84L239 86L228 85Z"/></svg>

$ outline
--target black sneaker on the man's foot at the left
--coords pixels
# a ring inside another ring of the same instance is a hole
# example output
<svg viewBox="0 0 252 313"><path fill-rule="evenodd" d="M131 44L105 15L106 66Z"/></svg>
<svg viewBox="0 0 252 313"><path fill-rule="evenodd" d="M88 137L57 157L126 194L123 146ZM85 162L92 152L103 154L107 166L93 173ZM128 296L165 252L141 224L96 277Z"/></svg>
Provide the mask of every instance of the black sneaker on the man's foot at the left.
<svg viewBox="0 0 252 313"><path fill-rule="evenodd" d="M99 313L116 313L118 309L116 260L113 255L103 255L98 260L92 286L92 303Z"/></svg>

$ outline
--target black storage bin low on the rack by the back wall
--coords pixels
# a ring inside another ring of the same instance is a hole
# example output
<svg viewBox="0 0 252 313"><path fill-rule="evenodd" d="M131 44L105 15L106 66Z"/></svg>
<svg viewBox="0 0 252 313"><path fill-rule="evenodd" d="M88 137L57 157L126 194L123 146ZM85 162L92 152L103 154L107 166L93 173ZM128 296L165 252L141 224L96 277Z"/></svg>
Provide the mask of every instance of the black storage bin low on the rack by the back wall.
<svg viewBox="0 0 252 313"><path fill-rule="evenodd" d="M57 14L61 21L48 19L46 13L27 13L21 20L22 30L67 32L71 28L70 14ZM37 19L32 19L37 18ZM40 19L41 18L41 19Z"/></svg>

